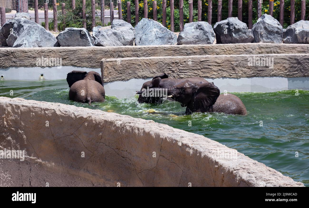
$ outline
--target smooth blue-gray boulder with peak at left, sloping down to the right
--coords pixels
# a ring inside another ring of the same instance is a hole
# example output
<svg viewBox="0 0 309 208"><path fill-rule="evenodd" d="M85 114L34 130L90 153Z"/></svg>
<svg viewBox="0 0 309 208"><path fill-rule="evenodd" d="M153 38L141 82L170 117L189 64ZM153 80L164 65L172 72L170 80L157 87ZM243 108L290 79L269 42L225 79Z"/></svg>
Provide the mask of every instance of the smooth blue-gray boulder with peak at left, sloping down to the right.
<svg viewBox="0 0 309 208"><path fill-rule="evenodd" d="M142 18L135 26L135 45L176 45L177 35L161 23Z"/></svg>

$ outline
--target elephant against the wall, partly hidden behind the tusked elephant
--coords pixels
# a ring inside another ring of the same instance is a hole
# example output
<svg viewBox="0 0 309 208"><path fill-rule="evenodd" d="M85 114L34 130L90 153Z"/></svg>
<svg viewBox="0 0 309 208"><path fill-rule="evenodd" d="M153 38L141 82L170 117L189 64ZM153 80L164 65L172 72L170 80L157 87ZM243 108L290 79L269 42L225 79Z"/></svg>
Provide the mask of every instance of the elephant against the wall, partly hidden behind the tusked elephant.
<svg viewBox="0 0 309 208"><path fill-rule="evenodd" d="M146 89L149 88L168 88L170 86L173 86L175 84L178 84L184 80L190 80L192 83L203 83L205 82L206 80L203 79L203 78L200 78L200 77L191 77L191 78L187 78L187 79L171 79L171 78L168 78L168 75L163 73L163 74L160 74L158 76L155 76L151 81L147 81L143 84L142 88L141 88L141 91L138 91L140 93L137 93L139 94L138 96L138 102L139 103L162 103L163 101L163 97L164 95L162 96L142 96L142 91L143 89ZM171 99L169 99L171 100Z"/></svg>

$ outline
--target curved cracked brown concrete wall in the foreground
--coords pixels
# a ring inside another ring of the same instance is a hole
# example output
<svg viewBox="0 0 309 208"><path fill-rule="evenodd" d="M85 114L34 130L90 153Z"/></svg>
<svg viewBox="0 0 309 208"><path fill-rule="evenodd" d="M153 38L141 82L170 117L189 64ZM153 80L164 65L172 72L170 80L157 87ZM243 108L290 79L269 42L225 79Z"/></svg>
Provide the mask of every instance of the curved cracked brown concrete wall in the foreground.
<svg viewBox="0 0 309 208"><path fill-rule="evenodd" d="M13 186L303 186L235 149L151 120L6 97L0 114L0 148L25 149L26 160L16 159L22 167L31 162L36 172L62 176L25 178L12 171L14 162L2 162L1 184L14 178Z"/></svg>

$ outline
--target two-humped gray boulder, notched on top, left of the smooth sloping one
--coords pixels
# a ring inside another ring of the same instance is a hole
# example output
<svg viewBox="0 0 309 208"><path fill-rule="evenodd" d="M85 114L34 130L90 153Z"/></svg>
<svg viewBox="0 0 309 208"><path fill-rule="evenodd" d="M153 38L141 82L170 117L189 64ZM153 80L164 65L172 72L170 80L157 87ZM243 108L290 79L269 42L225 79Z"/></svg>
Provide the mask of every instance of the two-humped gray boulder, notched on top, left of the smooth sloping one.
<svg viewBox="0 0 309 208"><path fill-rule="evenodd" d="M121 19L113 20L111 29L97 26L92 29L96 46L133 46L135 29Z"/></svg>

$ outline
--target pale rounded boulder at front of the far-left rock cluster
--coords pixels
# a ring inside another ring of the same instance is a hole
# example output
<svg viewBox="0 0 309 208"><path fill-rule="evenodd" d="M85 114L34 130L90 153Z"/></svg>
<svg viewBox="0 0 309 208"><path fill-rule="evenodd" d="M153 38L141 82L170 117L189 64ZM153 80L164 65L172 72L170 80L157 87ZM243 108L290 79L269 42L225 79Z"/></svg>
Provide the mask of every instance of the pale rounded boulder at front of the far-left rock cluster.
<svg viewBox="0 0 309 208"><path fill-rule="evenodd" d="M18 36L13 47L54 47L57 42L56 38L44 27L30 26Z"/></svg>

